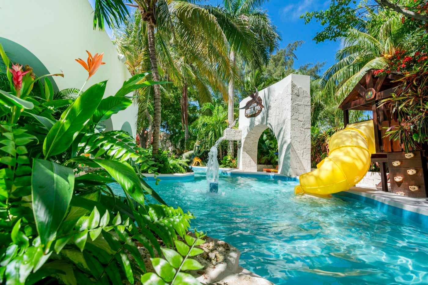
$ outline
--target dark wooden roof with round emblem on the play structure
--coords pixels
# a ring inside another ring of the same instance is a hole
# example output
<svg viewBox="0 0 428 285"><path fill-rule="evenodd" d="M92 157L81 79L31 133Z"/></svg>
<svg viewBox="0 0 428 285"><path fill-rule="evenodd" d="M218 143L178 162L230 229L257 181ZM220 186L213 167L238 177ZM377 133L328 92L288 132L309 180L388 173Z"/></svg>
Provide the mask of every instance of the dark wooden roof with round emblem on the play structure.
<svg viewBox="0 0 428 285"><path fill-rule="evenodd" d="M355 85L354 89L339 105L342 110L372 110L373 101L388 98L395 92L399 83L393 82L402 78L401 74L374 75L370 69Z"/></svg>

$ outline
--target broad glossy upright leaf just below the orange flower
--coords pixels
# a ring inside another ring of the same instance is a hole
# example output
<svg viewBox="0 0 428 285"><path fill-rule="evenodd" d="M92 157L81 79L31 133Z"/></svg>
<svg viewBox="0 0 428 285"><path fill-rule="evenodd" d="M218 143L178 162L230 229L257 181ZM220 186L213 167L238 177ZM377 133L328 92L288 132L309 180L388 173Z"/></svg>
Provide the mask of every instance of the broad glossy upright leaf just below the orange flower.
<svg viewBox="0 0 428 285"><path fill-rule="evenodd" d="M105 87L106 81L92 85L62 113L43 143L45 157L62 153L73 143L100 104Z"/></svg>

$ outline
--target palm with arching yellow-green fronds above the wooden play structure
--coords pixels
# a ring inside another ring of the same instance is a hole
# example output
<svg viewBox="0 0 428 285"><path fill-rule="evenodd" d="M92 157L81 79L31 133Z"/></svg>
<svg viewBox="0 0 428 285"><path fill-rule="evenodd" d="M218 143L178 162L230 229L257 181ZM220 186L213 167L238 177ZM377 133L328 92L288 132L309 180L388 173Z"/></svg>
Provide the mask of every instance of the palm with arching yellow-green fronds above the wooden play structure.
<svg viewBox="0 0 428 285"><path fill-rule="evenodd" d="M386 67L395 50L406 49L410 42L401 27L401 15L384 10L348 30L337 62L323 75L326 92L340 103L367 71Z"/></svg>

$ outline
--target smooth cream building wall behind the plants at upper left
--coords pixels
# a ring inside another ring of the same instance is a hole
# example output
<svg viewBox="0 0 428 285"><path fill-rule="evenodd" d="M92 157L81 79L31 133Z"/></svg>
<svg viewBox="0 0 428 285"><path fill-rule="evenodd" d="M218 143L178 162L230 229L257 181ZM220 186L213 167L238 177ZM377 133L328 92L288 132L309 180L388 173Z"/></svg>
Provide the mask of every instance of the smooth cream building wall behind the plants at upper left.
<svg viewBox="0 0 428 285"><path fill-rule="evenodd" d="M85 50L92 54L104 52L106 62L89 79L86 88L108 80L106 97L114 95L123 81L131 77L107 33L93 30L93 9L88 0L0 0L0 24L0 38L25 47L50 73L64 72L64 78L54 78L59 89L83 85L88 74L74 59L86 60ZM133 104L113 115L113 128L120 130L129 122L135 136L136 115L137 106Z"/></svg>

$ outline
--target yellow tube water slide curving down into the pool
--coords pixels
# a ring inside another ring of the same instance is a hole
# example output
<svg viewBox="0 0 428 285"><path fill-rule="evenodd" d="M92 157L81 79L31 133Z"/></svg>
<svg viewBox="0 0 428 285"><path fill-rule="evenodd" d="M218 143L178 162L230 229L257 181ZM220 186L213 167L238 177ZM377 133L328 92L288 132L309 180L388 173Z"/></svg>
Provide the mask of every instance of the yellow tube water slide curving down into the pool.
<svg viewBox="0 0 428 285"><path fill-rule="evenodd" d="M375 150L373 120L348 125L330 138L328 157L317 169L300 175L295 194L328 195L349 190L357 184L371 163Z"/></svg>

